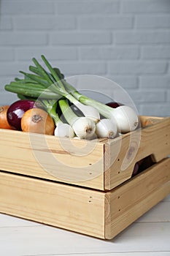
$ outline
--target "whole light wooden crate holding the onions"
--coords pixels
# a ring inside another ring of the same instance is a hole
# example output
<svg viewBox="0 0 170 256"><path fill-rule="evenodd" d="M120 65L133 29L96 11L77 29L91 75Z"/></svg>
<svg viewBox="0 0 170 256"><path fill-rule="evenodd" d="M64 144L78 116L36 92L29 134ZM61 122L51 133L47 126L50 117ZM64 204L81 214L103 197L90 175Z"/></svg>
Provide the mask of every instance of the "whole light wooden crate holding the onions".
<svg viewBox="0 0 170 256"><path fill-rule="evenodd" d="M115 237L170 192L170 118L141 122L142 129L87 146L0 129L0 212ZM148 156L153 165L131 178Z"/></svg>

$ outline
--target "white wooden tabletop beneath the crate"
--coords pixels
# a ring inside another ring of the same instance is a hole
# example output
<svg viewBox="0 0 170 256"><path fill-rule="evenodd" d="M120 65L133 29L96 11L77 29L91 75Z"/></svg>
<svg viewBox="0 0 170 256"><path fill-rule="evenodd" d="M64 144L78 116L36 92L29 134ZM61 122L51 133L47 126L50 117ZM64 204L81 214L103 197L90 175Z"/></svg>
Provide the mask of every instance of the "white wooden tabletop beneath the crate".
<svg viewBox="0 0 170 256"><path fill-rule="evenodd" d="M111 241L0 214L1 256L170 256L170 195Z"/></svg>

